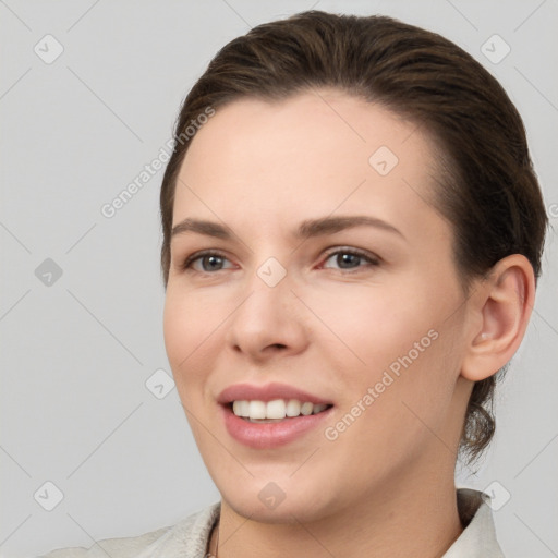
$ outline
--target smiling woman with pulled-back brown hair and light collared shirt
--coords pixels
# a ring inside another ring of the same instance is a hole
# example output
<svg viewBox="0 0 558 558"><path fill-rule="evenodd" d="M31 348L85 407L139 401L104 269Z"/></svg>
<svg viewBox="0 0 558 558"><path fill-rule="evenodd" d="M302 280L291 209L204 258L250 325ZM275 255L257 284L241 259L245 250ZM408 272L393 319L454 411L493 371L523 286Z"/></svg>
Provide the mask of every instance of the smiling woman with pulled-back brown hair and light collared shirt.
<svg viewBox="0 0 558 558"><path fill-rule="evenodd" d="M221 501L49 556L504 556L454 486L546 228L501 86L436 34L311 11L221 49L175 140L165 340Z"/></svg>

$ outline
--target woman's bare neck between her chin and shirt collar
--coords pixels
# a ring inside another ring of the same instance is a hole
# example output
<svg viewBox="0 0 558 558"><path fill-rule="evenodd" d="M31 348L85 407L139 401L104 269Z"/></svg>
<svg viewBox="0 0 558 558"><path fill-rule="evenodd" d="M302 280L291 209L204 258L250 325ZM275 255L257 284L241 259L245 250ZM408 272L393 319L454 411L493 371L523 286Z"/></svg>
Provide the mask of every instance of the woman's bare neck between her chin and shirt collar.
<svg viewBox="0 0 558 558"><path fill-rule="evenodd" d="M439 469L426 478L398 478L367 494L350 510L336 510L307 523L296 521L295 512L288 523L254 521L238 514L223 499L219 533L215 530L209 548L218 558L438 558L463 531L453 470L444 478L440 482Z"/></svg>

